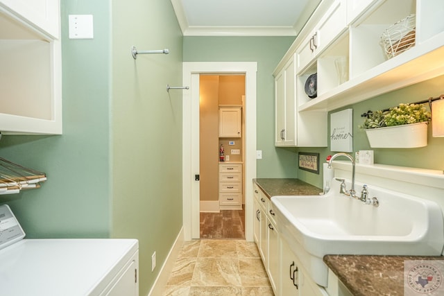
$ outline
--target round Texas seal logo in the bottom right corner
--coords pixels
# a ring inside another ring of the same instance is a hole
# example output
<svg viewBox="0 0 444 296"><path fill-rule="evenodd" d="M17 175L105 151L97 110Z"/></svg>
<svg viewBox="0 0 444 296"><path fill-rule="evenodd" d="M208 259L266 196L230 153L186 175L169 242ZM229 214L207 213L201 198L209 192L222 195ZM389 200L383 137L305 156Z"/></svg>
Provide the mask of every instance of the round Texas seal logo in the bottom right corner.
<svg viewBox="0 0 444 296"><path fill-rule="evenodd" d="M417 293L427 294L441 286L443 276L436 266L421 263L413 266L407 274L409 287Z"/></svg>

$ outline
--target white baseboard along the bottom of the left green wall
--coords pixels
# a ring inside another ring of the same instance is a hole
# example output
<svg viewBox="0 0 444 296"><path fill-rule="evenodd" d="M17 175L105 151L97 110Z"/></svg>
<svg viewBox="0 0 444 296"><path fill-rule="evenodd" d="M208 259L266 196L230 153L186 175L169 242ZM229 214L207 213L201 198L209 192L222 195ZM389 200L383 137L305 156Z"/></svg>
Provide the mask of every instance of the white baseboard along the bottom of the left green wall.
<svg viewBox="0 0 444 296"><path fill-rule="evenodd" d="M155 279L154 284L151 287L150 292L148 293L148 296L163 295L165 287L167 286L169 276L173 271L173 265L179 256L180 250L182 250L183 241L184 241L184 233L182 227L182 229L180 229L178 236L176 237L176 241L171 247L171 250L169 250L167 259L165 259L165 262L162 265L159 275L157 275L157 278Z"/></svg>

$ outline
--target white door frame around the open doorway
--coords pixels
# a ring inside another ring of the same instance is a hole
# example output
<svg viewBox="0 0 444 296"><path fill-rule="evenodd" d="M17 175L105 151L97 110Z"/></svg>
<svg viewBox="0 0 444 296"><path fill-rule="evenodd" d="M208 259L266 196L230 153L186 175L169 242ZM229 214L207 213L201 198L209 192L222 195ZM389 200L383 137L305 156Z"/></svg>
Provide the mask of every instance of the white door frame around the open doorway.
<svg viewBox="0 0 444 296"><path fill-rule="evenodd" d="M253 179L256 177L257 62L183 62L182 82L182 215L185 241L200 238L199 75L245 74L245 238L253 241Z"/></svg>

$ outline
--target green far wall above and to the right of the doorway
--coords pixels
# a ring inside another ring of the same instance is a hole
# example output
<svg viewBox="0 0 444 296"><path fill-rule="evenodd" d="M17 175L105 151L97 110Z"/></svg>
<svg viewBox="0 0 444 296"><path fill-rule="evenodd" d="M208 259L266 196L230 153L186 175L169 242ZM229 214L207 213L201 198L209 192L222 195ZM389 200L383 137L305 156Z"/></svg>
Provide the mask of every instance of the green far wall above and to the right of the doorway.
<svg viewBox="0 0 444 296"><path fill-rule="evenodd" d="M257 177L296 177L293 149L274 146L273 71L294 37L184 37L184 62L257 62Z"/></svg>

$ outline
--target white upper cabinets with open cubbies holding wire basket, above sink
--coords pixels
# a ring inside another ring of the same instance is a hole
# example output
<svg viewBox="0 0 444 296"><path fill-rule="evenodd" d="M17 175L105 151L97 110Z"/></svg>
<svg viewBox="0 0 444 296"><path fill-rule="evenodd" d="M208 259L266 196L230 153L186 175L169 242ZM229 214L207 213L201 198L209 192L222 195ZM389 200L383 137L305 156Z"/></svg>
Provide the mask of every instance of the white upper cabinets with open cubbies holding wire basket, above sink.
<svg viewBox="0 0 444 296"><path fill-rule="evenodd" d="M444 74L444 64L436 62L444 56L444 23L435 21L444 15L443 1L331 2L321 2L275 69L278 77L296 54L299 115L336 110ZM411 14L416 15L416 43L388 60L379 44L381 35ZM339 59L345 60L345 75L341 80L335 64ZM311 99L304 86L313 73L317 73L318 87L317 97Z"/></svg>

